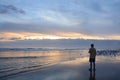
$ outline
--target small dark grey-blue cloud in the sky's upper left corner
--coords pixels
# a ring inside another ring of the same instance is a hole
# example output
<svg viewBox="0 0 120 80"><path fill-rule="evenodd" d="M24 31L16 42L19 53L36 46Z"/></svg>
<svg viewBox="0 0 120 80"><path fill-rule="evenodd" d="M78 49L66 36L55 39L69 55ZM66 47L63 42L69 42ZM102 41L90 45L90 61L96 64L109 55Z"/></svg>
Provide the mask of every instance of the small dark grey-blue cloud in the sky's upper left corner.
<svg viewBox="0 0 120 80"><path fill-rule="evenodd" d="M20 13L25 14L25 11L15 7L14 5L0 5L0 14Z"/></svg>

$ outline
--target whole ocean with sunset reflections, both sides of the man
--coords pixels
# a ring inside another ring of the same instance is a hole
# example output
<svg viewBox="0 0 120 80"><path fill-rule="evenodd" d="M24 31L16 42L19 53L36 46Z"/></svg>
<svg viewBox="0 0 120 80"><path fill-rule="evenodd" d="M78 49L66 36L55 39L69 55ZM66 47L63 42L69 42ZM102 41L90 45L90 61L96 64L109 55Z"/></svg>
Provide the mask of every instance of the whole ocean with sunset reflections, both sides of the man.
<svg viewBox="0 0 120 80"><path fill-rule="evenodd" d="M97 50L97 61L119 61L120 49ZM1 48L0 77L75 59L88 61L88 49Z"/></svg>

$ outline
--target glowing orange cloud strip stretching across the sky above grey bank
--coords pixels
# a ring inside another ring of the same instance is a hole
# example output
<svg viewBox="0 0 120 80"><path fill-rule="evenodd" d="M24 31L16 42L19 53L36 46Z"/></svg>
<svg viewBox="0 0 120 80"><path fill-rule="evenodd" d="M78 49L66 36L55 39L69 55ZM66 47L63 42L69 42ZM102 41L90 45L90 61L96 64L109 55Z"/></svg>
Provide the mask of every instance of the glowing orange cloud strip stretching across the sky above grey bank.
<svg viewBox="0 0 120 80"><path fill-rule="evenodd" d="M0 33L0 41L14 41L26 39L117 39L120 40L120 35L113 36L93 36L74 32L58 32L56 34L42 34L31 32L4 32Z"/></svg>

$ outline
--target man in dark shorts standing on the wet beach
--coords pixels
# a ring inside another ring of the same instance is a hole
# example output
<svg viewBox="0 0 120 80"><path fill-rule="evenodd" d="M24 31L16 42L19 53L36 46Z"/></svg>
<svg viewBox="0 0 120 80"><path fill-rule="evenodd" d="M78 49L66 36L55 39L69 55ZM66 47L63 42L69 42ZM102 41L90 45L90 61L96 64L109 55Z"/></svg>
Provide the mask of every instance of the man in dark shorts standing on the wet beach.
<svg viewBox="0 0 120 80"><path fill-rule="evenodd" d="M94 44L91 44L91 48L89 49L89 62L90 62L90 71L92 70L92 63L93 69L95 70L95 57L96 57L96 49L94 48Z"/></svg>

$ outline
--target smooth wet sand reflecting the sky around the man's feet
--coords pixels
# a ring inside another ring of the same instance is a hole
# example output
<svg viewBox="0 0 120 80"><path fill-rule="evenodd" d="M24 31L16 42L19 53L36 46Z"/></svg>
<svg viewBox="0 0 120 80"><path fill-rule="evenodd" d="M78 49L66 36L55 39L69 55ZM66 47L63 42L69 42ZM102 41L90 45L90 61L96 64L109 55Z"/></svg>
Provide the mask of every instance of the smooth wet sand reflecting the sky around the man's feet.
<svg viewBox="0 0 120 80"><path fill-rule="evenodd" d="M91 73L87 58L76 58L46 68L8 76L0 80L120 80L119 75L119 61L98 61L96 71Z"/></svg>

